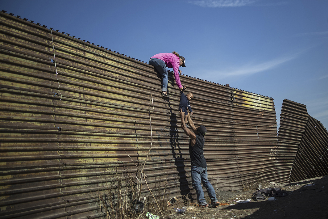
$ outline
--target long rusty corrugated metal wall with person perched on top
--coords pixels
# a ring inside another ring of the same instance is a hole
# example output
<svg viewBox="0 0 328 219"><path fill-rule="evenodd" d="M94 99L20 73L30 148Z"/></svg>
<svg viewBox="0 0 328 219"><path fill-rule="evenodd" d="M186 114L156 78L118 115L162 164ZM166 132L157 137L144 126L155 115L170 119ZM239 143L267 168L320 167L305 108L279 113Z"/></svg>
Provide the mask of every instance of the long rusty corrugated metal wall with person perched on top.
<svg viewBox="0 0 328 219"><path fill-rule="evenodd" d="M99 193L116 173L140 169L151 144L150 188L195 198L172 77L167 101L147 63L0 13L1 218L99 218ZM290 169L277 168L272 98L180 79L194 93L195 124L207 127L204 154L217 189L288 179ZM143 185L141 198L148 195Z"/></svg>

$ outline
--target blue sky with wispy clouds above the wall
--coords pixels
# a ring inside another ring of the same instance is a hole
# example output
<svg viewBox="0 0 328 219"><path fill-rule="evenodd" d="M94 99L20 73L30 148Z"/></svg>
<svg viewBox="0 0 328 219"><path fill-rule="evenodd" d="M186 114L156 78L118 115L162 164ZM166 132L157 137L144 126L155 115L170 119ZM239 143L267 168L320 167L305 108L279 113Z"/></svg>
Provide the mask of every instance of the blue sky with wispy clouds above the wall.
<svg viewBox="0 0 328 219"><path fill-rule="evenodd" d="M289 99L328 128L326 0L1 0L0 10L145 62L176 51L185 75L272 97L278 123Z"/></svg>

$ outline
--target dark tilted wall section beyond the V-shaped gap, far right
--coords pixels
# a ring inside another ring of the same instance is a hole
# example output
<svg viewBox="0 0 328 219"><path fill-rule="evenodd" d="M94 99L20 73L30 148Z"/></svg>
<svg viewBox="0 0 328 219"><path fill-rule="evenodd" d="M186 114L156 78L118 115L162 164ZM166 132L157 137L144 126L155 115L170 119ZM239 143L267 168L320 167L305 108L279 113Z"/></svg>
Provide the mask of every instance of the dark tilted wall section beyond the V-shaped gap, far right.
<svg viewBox="0 0 328 219"><path fill-rule="evenodd" d="M328 132L306 105L285 99L278 131L277 175L295 182L327 175ZM278 177L277 177L278 178Z"/></svg>

